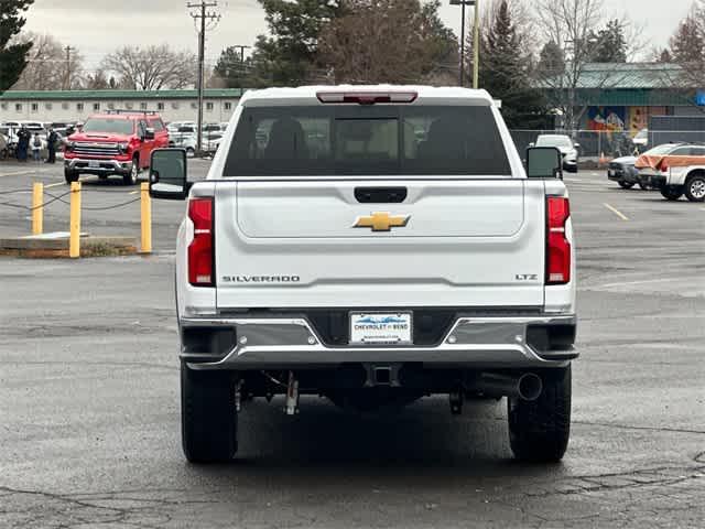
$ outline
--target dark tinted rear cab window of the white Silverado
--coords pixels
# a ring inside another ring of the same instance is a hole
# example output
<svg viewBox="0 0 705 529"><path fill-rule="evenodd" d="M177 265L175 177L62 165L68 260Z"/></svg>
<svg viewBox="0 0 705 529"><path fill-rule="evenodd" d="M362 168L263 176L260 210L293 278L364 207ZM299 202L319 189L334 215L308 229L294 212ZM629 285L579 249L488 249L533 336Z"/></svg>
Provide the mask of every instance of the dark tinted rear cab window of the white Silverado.
<svg viewBox="0 0 705 529"><path fill-rule="evenodd" d="M489 105L245 106L224 176L510 177Z"/></svg>

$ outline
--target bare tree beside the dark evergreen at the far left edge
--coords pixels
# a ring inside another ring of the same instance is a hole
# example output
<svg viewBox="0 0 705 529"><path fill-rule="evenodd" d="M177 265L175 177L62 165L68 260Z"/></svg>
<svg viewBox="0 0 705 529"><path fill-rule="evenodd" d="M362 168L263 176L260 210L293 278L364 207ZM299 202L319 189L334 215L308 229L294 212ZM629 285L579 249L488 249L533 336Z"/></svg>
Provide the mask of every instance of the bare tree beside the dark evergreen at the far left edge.
<svg viewBox="0 0 705 529"><path fill-rule="evenodd" d="M24 33L18 42L33 41L28 66L12 87L15 90L75 89L82 85L83 57L75 50L68 53L61 42L48 34Z"/></svg>

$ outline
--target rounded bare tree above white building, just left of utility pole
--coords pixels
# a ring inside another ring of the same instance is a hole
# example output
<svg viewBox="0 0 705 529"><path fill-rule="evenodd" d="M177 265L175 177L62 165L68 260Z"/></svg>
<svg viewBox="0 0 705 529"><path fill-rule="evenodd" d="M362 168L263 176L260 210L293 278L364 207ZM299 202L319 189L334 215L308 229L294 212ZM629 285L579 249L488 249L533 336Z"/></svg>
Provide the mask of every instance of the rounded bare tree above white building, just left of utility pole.
<svg viewBox="0 0 705 529"><path fill-rule="evenodd" d="M118 77L120 86L134 90L186 88L196 82L196 56L176 52L166 44L124 46L107 55L102 68Z"/></svg>

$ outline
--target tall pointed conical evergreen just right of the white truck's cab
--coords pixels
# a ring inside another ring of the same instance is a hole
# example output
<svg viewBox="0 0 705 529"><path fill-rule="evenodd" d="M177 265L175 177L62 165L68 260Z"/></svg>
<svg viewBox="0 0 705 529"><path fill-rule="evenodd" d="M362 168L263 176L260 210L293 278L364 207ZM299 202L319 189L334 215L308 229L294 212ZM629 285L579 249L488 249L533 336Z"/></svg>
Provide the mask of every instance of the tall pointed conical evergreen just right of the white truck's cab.
<svg viewBox="0 0 705 529"><path fill-rule="evenodd" d="M501 99L508 127L540 127L545 121L543 100L540 93L530 87L531 61L512 23L507 0L501 1L480 45L480 86L494 98Z"/></svg>

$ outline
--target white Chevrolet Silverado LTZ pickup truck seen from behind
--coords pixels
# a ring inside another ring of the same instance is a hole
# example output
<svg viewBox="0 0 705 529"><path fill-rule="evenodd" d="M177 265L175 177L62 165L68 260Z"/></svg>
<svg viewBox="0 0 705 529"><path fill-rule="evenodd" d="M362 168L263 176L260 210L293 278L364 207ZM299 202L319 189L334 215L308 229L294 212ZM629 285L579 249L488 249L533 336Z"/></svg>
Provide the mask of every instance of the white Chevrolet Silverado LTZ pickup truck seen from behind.
<svg viewBox="0 0 705 529"><path fill-rule="evenodd" d="M290 414L301 395L360 411L445 395L453 413L508 397L516 456L563 456L577 353L561 152L529 149L525 170L486 91L248 91L207 180L186 163L155 151L150 193L188 201L189 461L231 458L241 406L278 395Z"/></svg>

